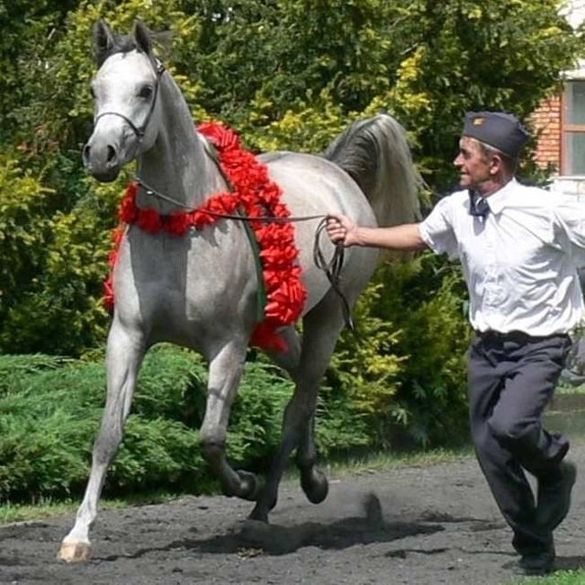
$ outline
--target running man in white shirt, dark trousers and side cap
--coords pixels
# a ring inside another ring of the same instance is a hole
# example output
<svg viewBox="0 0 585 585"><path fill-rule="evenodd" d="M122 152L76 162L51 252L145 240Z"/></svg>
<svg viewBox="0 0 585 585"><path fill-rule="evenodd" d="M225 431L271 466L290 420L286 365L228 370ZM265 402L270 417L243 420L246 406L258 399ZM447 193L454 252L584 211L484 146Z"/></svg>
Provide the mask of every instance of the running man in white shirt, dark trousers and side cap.
<svg viewBox="0 0 585 585"><path fill-rule="evenodd" d="M585 264L585 201L520 185L528 134L504 112L468 112L454 165L462 190L428 218L362 228L343 215L327 232L345 246L424 250L459 259L474 330L467 357L473 444L512 528L527 574L553 568L553 530L569 512L576 479L565 436L541 421L580 323L576 266ZM525 470L537 478L537 498Z"/></svg>

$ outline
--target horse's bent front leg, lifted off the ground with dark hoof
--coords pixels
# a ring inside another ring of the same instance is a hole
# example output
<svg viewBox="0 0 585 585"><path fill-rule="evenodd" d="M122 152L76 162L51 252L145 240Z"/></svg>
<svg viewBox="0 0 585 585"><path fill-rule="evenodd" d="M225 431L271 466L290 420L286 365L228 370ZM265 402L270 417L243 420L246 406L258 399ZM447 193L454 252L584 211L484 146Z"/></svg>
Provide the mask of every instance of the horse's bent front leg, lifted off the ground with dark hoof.
<svg viewBox="0 0 585 585"><path fill-rule="evenodd" d="M207 406L199 430L203 457L218 477L224 495L255 500L260 482L253 473L233 470L226 458L229 410L239 387L246 346L235 343L224 346L209 363Z"/></svg>

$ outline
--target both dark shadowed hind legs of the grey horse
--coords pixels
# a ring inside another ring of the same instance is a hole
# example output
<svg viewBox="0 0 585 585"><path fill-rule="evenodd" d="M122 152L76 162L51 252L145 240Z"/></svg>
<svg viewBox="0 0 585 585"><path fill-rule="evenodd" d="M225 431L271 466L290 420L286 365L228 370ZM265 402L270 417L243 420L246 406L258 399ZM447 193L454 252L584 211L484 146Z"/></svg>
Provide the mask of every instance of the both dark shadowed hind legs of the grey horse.
<svg viewBox="0 0 585 585"><path fill-rule="evenodd" d="M321 378L343 327L341 304L333 291L327 293L321 303L304 316L301 358L298 367L291 371L295 389L284 411L281 446L250 514L251 519L268 521L268 513L278 499L282 473L295 449L301 486L309 501L318 504L328 493L327 479L315 467L317 450L314 443L314 413Z"/></svg>

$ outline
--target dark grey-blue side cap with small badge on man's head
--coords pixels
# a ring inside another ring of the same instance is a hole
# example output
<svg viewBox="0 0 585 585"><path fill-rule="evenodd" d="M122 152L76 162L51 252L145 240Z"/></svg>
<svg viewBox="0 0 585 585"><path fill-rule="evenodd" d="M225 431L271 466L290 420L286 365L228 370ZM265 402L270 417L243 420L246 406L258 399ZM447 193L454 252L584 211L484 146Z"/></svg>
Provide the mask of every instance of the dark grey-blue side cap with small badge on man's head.
<svg viewBox="0 0 585 585"><path fill-rule="evenodd" d="M489 144L516 159L529 134L516 116L505 112L467 112L463 136Z"/></svg>

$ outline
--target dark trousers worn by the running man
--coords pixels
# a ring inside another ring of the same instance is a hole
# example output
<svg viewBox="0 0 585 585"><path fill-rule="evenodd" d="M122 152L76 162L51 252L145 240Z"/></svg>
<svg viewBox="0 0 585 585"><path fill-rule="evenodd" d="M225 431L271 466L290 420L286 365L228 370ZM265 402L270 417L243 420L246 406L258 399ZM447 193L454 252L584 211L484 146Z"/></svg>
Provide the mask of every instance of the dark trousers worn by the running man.
<svg viewBox="0 0 585 585"><path fill-rule="evenodd" d="M552 544L552 534L537 526L525 470L537 478L555 473L569 450L567 437L548 433L541 420L569 347L569 335L491 332L474 335L468 354L473 445L522 555Z"/></svg>

